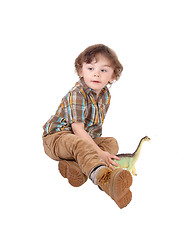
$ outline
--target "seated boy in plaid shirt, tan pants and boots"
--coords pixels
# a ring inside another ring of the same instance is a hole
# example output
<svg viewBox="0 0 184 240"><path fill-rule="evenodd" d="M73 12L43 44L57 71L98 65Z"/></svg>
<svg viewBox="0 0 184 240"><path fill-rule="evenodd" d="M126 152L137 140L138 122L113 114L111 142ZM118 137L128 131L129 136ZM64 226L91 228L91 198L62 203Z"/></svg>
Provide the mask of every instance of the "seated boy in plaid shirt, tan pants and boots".
<svg viewBox="0 0 184 240"><path fill-rule="evenodd" d="M123 67L112 49L97 44L76 58L75 69L80 80L43 126L44 150L60 161L59 170L72 186L89 177L123 208L132 199L132 176L114 168L118 166L113 161L118 159L116 139L101 137L111 98L107 85L118 80Z"/></svg>

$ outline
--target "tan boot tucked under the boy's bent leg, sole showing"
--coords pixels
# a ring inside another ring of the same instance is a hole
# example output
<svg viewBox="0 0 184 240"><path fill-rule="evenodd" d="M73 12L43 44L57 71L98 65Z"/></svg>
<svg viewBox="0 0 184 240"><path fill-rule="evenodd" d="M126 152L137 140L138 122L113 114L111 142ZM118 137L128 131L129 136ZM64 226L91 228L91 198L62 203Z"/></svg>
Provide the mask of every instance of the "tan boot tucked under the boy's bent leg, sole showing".
<svg viewBox="0 0 184 240"><path fill-rule="evenodd" d="M58 169L64 178L68 178L68 182L73 187L80 187L87 181L87 176L81 172L79 165L75 161L61 160Z"/></svg>

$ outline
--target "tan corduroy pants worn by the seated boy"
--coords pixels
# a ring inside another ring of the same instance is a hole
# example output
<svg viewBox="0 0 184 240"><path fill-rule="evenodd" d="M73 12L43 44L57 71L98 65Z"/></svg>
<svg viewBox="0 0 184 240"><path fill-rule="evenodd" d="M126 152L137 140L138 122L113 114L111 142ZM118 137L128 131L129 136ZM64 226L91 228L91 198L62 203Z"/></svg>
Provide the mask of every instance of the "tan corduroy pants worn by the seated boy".
<svg viewBox="0 0 184 240"><path fill-rule="evenodd" d="M119 147L115 138L99 137L94 141L103 151L114 155L118 153ZM54 160L75 160L86 176L89 176L93 168L107 165L99 158L96 150L88 141L70 131L61 131L43 137L43 146L45 153Z"/></svg>

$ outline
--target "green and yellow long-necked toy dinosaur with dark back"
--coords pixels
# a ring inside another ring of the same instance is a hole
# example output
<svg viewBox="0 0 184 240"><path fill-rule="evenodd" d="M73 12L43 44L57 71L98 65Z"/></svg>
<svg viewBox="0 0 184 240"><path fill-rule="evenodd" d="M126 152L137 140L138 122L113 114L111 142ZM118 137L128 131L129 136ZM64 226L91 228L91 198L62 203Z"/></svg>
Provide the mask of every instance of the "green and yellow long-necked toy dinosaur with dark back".
<svg viewBox="0 0 184 240"><path fill-rule="evenodd" d="M150 141L149 137L144 137L140 140L139 145L134 153L125 153L118 154L117 157L120 160L113 159L116 163L118 163L119 167L114 166L115 168L126 168L128 171L131 171L134 176L137 176L135 170L135 163L140 155L141 147L144 141Z"/></svg>

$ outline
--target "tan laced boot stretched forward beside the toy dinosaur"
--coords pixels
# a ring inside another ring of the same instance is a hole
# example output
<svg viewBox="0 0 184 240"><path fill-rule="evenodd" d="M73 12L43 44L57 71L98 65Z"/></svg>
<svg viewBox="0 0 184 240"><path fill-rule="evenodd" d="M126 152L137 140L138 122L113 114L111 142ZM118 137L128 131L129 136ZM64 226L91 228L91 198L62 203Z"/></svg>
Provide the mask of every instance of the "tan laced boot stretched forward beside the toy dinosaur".
<svg viewBox="0 0 184 240"><path fill-rule="evenodd" d="M127 170L102 168L97 174L97 184L119 206L126 207L132 200L132 175Z"/></svg>

